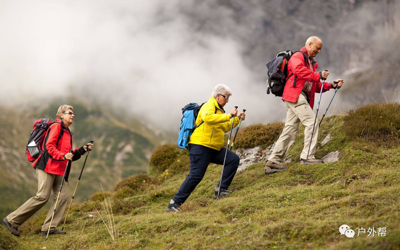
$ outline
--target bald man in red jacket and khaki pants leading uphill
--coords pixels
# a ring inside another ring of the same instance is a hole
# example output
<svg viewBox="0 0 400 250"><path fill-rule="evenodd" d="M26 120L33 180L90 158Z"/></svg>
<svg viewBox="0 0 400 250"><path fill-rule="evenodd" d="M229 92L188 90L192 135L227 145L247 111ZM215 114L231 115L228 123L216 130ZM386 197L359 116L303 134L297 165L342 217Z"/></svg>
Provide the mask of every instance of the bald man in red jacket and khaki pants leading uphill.
<svg viewBox="0 0 400 250"><path fill-rule="evenodd" d="M314 57L320 53L321 49L322 41L320 38L312 36L307 39L306 46L299 52L294 53L288 62L288 77L282 96L287 110L286 123L271 156L266 162L266 175L287 169L287 166L281 166L280 164L284 161L290 145L296 139L300 122L306 127L304 129L304 148L300 155L300 163L323 163L322 160L315 159L314 156L318 138L318 120L315 123L310 154L308 155L308 160L306 160L315 119L315 114L312 111L315 93L321 92L322 82L320 79L326 79L329 74L328 71L319 73L316 71L318 63L314 61ZM344 81L342 79L337 79L337 81L338 83L325 82L322 92L331 88L342 87Z"/></svg>

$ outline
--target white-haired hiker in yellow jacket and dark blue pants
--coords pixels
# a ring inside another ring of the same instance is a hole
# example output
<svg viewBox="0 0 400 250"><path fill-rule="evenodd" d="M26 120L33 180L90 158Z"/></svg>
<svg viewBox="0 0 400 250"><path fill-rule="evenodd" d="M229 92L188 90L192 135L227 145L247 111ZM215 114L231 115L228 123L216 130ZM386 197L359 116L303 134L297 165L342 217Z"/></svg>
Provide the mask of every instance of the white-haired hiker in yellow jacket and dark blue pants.
<svg viewBox="0 0 400 250"><path fill-rule="evenodd" d="M201 107L196 119L197 127L190 136L188 143L190 173L168 204L167 212L176 212L180 209L180 206L203 179L209 163L220 165L224 163L227 150L223 148L224 135L230 131L232 122L235 127L239 123L239 118L242 120L245 118L245 114L238 114L237 109L232 109L229 114L225 114L224 106L228 103L230 96L232 96L230 88L224 84L218 84L212 90L212 97ZM214 197L219 198L232 192L228 190L228 187L238 166L239 156L228 150L224 173L222 173L222 184L218 183L217 187L214 188ZM220 185L220 196L217 197Z"/></svg>

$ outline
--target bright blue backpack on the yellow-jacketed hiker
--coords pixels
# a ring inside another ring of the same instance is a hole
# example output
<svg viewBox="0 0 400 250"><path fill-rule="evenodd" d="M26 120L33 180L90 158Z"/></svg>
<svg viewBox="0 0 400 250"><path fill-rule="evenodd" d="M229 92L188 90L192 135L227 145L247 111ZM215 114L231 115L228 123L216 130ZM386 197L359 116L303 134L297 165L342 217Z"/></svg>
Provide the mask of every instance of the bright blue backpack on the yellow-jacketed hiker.
<svg viewBox="0 0 400 250"><path fill-rule="evenodd" d="M188 147L188 141L193 131L204 123L204 121L202 121L198 126L196 126L197 115L203 104L204 103L199 106L197 103L189 103L182 108L183 117L180 123L178 141L176 141L180 149ZM217 110L215 109L215 113L216 112Z"/></svg>

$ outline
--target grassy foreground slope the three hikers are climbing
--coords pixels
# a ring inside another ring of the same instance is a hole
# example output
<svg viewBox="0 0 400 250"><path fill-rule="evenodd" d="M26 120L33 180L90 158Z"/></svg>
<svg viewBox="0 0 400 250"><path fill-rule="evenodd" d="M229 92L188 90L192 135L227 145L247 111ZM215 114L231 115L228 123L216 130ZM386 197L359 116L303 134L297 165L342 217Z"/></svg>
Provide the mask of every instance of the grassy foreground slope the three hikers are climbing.
<svg viewBox="0 0 400 250"><path fill-rule="evenodd" d="M164 209L188 173L187 152L160 147L152 155L151 174L124 179L110 196L118 230L115 241L101 218L86 217L97 214L84 202L74 206L65 236L48 241L40 237L45 216L40 214L21 226L20 238L1 227L4 243L0 246L10 250L44 246L48 250L400 249L399 109L398 103L373 104L350 115L326 117L316 156L339 151L339 161L334 163L298 163L304 139L300 127L286 171L266 176L265 162L251 165L232 182L230 188L237 191L221 200L212 199L221 167L210 164L177 213ZM328 133L332 139L321 146ZM159 161L161 156L167 165ZM100 208L96 197L92 199ZM342 224L356 232L354 238L340 235ZM385 227L386 236L362 233L357 237L361 227L376 231Z"/></svg>

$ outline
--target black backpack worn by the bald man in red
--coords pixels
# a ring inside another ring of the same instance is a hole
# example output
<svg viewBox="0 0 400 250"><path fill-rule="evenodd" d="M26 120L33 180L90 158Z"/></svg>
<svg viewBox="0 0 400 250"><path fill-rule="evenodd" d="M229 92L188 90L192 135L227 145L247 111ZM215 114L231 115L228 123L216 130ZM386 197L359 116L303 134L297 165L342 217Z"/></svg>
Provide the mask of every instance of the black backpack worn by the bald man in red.
<svg viewBox="0 0 400 250"><path fill-rule="evenodd" d="M304 63L307 62L307 57L301 50L304 57ZM278 53L274 59L266 63L268 68L268 79L267 79L267 94L272 93L275 96L282 97L283 89L285 87L286 79L288 79L288 62L292 55L296 52L286 50Z"/></svg>

